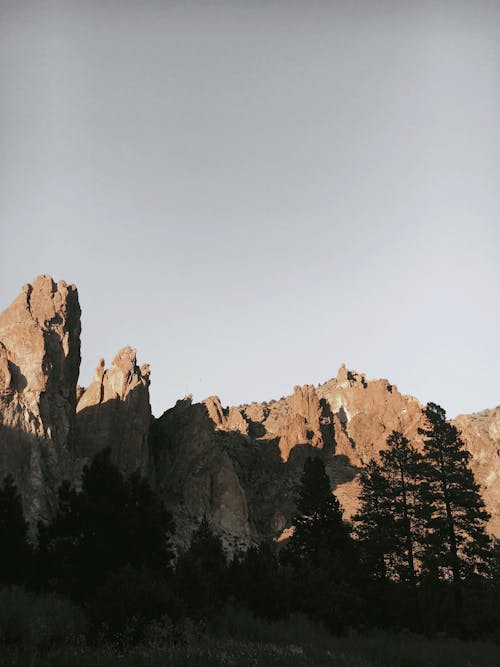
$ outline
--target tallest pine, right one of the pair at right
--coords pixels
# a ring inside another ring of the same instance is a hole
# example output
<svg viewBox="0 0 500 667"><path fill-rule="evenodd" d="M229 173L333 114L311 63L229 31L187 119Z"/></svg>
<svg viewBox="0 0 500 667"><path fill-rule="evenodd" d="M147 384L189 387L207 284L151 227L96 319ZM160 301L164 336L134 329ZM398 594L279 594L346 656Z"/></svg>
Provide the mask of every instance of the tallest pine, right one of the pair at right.
<svg viewBox="0 0 500 667"><path fill-rule="evenodd" d="M489 514L470 468L471 454L445 411L435 403L424 409L420 487L427 537L423 570L429 577L451 580L458 623L462 624L462 582L487 574L491 545L486 533Z"/></svg>

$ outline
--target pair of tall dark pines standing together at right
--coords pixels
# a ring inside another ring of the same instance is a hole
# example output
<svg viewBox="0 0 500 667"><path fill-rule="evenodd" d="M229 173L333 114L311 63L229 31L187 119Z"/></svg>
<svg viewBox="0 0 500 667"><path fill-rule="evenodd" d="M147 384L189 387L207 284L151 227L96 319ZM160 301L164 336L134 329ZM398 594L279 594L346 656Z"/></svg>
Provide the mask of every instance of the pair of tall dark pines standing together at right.
<svg viewBox="0 0 500 667"><path fill-rule="evenodd" d="M370 579L411 591L415 627L437 622L438 598L451 595L446 629L464 634L473 621L466 619L466 591L491 583L490 517L456 427L434 403L424 415L422 451L393 432L380 463L371 461L361 475L355 532Z"/></svg>

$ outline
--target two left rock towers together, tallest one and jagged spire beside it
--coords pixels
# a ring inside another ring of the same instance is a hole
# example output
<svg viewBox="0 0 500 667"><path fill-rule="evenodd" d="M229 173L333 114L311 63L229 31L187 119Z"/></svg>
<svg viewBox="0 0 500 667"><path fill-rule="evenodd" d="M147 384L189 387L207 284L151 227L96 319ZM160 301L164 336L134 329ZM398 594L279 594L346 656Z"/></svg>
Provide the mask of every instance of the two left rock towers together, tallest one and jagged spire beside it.
<svg viewBox="0 0 500 667"><path fill-rule="evenodd" d="M124 473L148 474L149 366L126 347L77 387L80 333L75 286L48 276L0 314L0 480L14 475L32 524L50 517L60 483L77 481L104 447Z"/></svg>

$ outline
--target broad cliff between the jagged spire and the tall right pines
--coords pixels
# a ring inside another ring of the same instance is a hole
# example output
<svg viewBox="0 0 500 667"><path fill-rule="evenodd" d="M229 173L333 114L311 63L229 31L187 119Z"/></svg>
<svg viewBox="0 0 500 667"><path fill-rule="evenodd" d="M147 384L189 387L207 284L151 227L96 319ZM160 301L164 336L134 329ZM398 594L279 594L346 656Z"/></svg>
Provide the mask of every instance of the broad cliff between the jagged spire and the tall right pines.
<svg viewBox="0 0 500 667"><path fill-rule="evenodd" d="M345 367L335 379L295 387L279 401L224 409L217 397L197 405L185 399L155 424L157 490L183 541L203 515L228 545L279 539L308 455L322 456L350 517L363 465L392 430L414 439L421 415L418 401L386 380L367 382Z"/></svg>

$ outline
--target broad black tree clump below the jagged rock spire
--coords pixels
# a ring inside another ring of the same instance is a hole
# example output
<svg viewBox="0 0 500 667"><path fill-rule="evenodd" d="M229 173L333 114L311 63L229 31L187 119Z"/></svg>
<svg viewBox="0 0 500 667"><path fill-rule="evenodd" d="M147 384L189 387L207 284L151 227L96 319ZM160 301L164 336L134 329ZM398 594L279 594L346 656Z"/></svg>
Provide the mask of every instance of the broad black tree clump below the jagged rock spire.
<svg viewBox="0 0 500 667"><path fill-rule="evenodd" d="M77 600L126 565L167 574L172 559L170 514L146 481L123 478L110 453L84 469L81 491L61 485L58 512L39 526L41 579Z"/></svg>

